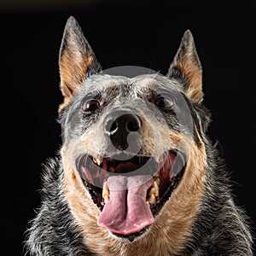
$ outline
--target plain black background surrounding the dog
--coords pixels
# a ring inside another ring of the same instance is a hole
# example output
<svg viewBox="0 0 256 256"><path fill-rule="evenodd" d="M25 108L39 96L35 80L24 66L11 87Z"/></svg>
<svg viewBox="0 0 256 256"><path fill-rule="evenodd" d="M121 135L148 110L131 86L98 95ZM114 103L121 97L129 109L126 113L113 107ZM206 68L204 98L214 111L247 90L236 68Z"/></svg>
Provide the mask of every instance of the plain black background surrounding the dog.
<svg viewBox="0 0 256 256"><path fill-rule="evenodd" d="M9 255L23 254L26 224L39 206L41 165L61 147L58 54L70 15L103 68L134 65L166 73L183 32L191 30L203 66L204 103L212 110L208 134L232 172L237 204L256 220L255 14L248 1L222 2L0 9L1 234Z"/></svg>

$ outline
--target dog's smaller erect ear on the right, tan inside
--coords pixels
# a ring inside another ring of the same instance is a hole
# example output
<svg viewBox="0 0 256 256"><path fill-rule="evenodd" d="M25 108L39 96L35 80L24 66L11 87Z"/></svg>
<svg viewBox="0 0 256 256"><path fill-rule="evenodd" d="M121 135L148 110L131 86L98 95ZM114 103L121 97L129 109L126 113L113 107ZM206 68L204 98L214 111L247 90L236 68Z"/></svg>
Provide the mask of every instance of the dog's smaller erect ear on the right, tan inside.
<svg viewBox="0 0 256 256"><path fill-rule="evenodd" d="M182 42L177 54L169 68L168 77L183 79L184 91L192 102L201 103L202 92L202 71L201 63L195 49L192 33L184 32Z"/></svg>

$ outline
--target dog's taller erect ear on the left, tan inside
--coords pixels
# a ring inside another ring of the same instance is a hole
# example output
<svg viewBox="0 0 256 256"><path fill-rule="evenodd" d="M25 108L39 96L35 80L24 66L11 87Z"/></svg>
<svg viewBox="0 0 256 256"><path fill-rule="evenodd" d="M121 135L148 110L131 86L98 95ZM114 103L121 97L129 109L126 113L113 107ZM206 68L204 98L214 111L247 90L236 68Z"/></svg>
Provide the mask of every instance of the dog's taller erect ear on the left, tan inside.
<svg viewBox="0 0 256 256"><path fill-rule="evenodd" d="M71 100L73 92L81 86L85 76L97 73L101 69L90 44L84 38L79 23L72 16L67 20L65 26L59 55L59 66L61 92L64 96L64 102L59 108L60 112Z"/></svg>

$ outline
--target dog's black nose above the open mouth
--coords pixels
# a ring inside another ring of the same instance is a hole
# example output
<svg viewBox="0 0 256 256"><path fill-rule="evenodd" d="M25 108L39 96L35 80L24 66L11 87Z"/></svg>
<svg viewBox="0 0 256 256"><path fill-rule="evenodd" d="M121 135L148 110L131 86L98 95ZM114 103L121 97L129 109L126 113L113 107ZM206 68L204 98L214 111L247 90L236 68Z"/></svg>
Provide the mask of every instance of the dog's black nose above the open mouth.
<svg viewBox="0 0 256 256"><path fill-rule="evenodd" d="M128 135L141 129L141 119L135 113L115 111L108 114L104 122L105 134L110 137L114 148L125 150L129 146Z"/></svg>

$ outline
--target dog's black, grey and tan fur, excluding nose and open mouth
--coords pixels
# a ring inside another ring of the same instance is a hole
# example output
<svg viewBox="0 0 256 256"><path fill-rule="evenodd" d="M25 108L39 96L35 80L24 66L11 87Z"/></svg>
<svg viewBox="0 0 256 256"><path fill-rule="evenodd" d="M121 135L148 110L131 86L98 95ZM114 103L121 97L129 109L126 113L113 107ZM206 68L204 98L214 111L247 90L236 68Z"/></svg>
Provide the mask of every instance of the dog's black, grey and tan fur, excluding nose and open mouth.
<svg viewBox="0 0 256 256"><path fill-rule="evenodd" d="M44 167L42 205L28 230L28 253L253 255L247 216L236 206L224 160L207 137L210 113L202 105L201 63L189 31L166 77L154 73L128 79L101 71L71 17L61 44L60 73L63 145ZM140 119L138 155L157 158L172 148L186 155L172 194L162 200L143 235L119 237L99 226L99 196L92 195L93 186L77 170L81 154L106 159L116 153L102 127L117 109Z"/></svg>

